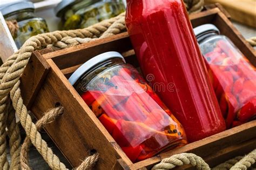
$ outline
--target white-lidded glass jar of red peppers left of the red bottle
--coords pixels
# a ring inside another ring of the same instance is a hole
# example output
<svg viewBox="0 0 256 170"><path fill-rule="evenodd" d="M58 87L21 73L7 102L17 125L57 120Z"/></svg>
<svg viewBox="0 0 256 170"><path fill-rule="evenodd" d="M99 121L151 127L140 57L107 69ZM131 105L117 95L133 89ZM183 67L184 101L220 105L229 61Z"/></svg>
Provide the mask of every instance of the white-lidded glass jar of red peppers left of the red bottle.
<svg viewBox="0 0 256 170"><path fill-rule="evenodd" d="M120 53L90 59L69 81L132 162L187 144L178 120Z"/></svg>

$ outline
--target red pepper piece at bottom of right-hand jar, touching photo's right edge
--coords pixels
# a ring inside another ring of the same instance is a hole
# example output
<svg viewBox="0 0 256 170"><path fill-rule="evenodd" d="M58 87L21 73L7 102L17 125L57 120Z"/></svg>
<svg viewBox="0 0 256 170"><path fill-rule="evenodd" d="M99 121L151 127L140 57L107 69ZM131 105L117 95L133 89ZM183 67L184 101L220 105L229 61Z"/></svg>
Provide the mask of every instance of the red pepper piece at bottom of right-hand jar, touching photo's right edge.
<svg viewBox="0 0 256 170"><path fill-rule="evenodd" d="M244 105L238 112L238 120L242 123L247 122L251 118L256 116L256 98L250 100Z"/></svg>

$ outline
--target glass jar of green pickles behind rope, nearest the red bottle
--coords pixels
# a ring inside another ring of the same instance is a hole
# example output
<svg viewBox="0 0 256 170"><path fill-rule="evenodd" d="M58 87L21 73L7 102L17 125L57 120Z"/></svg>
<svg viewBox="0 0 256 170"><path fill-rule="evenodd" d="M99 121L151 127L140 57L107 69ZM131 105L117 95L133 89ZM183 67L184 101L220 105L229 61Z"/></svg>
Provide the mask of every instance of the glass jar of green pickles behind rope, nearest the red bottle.
<svg viewBox="0 0 256 170"><path fill-rule="evenodd" d="M122 0L62 1L55 8L62 18L63 29L82 29L125 11Z"/></svg>

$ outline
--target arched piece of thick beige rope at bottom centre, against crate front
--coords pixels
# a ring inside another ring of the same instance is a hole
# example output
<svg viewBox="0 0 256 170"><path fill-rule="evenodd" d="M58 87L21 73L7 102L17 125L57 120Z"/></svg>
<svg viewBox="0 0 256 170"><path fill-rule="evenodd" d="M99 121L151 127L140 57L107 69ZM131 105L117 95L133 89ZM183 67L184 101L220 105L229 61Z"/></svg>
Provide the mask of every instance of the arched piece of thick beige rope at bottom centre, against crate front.
<svg viewBox="0 0 256 170"><path fill-rule="evenodd" d="M161 160L159 164L153 166L152 170L172 169L176 166L183 165L192 165L196 166L197 169L210 170L210 167L206 164L206 162L201 157L198 157L193 153L181 153L172 155L170 158L165 158Z"/></svg>

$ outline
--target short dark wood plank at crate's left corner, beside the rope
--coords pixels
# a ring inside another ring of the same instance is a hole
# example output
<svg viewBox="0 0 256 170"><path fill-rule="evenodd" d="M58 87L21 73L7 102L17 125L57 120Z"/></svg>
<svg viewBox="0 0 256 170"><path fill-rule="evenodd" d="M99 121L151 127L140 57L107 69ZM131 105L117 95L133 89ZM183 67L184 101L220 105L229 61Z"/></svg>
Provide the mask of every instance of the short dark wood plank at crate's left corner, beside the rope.
<svg viewBox="0 0 256 170"><path fill-rule="evenodd" d="M23 102L28 110L35 100L37 92L44 83L44 79L49 70L50 65L43 59L41 53L38 51L33 52L22 74L21 85L19 86L21 88Z"/></svg>

